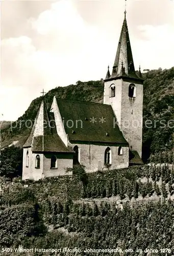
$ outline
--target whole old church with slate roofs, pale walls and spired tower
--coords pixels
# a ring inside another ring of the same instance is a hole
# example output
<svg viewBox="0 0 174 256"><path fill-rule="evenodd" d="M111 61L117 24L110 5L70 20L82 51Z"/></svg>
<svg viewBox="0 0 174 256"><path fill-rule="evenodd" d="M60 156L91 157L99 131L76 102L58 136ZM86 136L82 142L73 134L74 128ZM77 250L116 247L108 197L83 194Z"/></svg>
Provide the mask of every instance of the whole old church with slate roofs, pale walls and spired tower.
<svg viewBox="0 0 174 256"><path fill-rule="evenodd" d="M23 180L71 175L67 168L76 165L88 173L143 164L143 78L135 72L126 12L104 81L104 103L55 96L48 112L43 98L23 145Z"/></svg>

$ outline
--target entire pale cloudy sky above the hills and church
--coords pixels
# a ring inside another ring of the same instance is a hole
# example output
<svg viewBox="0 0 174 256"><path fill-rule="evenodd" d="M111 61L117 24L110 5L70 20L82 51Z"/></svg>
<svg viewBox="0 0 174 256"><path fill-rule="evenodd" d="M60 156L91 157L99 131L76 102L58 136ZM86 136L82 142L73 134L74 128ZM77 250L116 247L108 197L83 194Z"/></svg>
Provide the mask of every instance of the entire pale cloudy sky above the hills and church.
<svg viewBox="0 0 174 256"><path fill-rule="evenodd" d="M174 0L126 3L136 70L173 67ZM3 1L0 120L22 116L42 89L105 78L124 11L124 0Z"/></svg>

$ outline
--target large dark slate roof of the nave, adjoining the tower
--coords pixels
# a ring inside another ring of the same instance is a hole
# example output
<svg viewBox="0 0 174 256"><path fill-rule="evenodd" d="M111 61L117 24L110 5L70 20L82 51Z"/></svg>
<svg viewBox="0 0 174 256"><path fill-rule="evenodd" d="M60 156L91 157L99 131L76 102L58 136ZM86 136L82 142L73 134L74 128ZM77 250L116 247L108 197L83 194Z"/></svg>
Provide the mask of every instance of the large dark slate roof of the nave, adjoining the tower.
<svg viewBox="0 0 174 256"><path fill-rule="evenodd" d="M60 98L57 103L71 143L102 142L128 146L118 125L113 125L116 119L111 105Z"/></svg>

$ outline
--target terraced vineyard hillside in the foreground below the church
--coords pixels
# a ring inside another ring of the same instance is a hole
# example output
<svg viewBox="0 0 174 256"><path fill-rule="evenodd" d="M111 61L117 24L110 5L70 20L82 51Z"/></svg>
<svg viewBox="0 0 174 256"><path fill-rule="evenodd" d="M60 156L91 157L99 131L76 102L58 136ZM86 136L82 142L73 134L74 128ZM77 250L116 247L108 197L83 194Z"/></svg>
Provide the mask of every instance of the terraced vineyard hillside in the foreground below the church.
<svg viewBox="0 0 174 256"><path fill-rule="evenodd" d="M173 251L173 165L1 184L0 245L8 248L2 255L162 256ZM81 253L48 251L64 247ZM86 248L117 251L86 253Z"/></svg>

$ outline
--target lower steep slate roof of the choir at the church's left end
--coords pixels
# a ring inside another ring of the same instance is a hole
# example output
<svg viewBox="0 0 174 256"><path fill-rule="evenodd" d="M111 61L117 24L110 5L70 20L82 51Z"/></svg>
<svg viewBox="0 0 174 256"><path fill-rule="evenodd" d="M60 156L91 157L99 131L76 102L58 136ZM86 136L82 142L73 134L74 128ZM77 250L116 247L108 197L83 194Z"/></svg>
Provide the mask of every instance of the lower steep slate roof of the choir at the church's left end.
<svg viewBox="0 0 174 256"><path fill-rule="evenodd" d="M66 147L57 134L54 113L47 113L45 104L43 110L43 136L33 136L35 131L35 125L33 125L32 132L23 147L31 146L34 152L74 152L71 147Z"/></svg>

